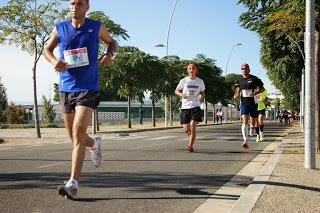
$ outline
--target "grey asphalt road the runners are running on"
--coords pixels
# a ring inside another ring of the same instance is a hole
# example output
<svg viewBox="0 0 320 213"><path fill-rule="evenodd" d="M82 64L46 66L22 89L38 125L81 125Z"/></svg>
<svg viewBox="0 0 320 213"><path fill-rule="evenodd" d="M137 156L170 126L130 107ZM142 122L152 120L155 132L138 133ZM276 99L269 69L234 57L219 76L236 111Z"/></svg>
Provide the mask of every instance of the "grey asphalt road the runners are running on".
<svg viewBox="0 0 320 213"><path fill-rule="evenodd" d="M246 151L240 124L199 127L194 153L182 129L101 134L104 163L94 168L86 154L76 201L57 193L70 143L0 147L0 212L193 212L284 129L268 123L266 141L251 137Z"/></svg>

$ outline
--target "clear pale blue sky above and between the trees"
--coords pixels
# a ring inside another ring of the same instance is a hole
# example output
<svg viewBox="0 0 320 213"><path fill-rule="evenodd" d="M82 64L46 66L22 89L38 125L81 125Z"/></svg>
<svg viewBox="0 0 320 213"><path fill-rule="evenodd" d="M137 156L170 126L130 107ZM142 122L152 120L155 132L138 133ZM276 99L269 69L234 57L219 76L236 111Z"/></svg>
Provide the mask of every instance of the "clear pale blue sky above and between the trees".
<svg viewBox="0 0 320 213"><path fill-rule="evenodd" d="M0 0L0 6L8 1ZM175 0L90 0L90 11L103 11L127 30L130 38L120 45L162 58L166 54L169 19ZM68 2L63 3L68 7ZM89 11L89 12L90 12ZM241 74L240 66L248 63L251 74L258 76L268 92L276 92L260 63L260 41L256 33L238 22L246 9L236 0L178 0L171 24L168 54L192 59L197 54L216 60L224 74ZM239 46L235 44L241 43ZM233 48L234 46L234 48ZM229 63L228 57L230 56ZM7 89L9 102L33 103L33 57L15 46L0 45L0 78ZM58 75L42 57L37 67L38 104L42 95L53 97L53 83ZM214 84L214 82L212 82Z"/></svg>

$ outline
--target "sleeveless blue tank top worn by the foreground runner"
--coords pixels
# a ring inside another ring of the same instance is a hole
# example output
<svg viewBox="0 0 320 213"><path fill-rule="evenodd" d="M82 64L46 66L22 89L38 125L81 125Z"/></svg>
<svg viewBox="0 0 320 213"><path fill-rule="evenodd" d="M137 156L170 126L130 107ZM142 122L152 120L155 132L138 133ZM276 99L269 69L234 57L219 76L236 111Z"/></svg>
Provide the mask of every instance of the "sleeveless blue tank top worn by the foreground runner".
<svg viewBox="0 0 320 213"><path fill-rule="evenodd" d="M56 24L60 59L68 62L68 70L59 72L59 91L98 91L98 50L101 23L86 19L80 28L71 20Z"/></svg>

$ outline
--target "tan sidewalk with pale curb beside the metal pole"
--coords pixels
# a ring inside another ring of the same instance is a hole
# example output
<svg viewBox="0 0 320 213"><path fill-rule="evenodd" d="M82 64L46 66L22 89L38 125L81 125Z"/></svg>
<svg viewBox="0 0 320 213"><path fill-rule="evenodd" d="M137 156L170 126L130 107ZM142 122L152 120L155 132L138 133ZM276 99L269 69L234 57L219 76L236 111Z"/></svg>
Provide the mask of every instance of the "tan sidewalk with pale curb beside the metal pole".
<svg viewBox="0 0 320 213"><path fill-rule="evenodd" d="M297 124L241 194L231 212L320 212L320 157L304 168L304 138Z"/></svg>

